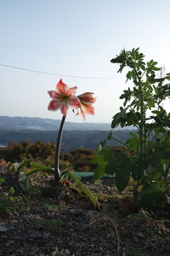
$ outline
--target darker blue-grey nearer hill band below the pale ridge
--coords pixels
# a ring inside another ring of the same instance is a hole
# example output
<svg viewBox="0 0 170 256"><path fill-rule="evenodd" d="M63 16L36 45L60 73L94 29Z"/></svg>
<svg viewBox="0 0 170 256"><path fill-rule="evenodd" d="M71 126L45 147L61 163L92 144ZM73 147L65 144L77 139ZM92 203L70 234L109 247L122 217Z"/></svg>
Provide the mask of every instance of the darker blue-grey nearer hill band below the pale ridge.
<svg viewBox="0 0 170 256"><path fill-rule="evenodd" d="M134 131L135 132L135 131ZM96 149L99 143L107 137L109 131L64 131L61 143L61 150L71 152L77 148ZM129 130L114 131L114 136L123 143L129 138ZM23 141L35 142L40 140L45 143L55 142L57 131L0 131L0 144L8 145L10 142L21 143ZM111 146L121 145L116 141L109 142Z"/></svg>

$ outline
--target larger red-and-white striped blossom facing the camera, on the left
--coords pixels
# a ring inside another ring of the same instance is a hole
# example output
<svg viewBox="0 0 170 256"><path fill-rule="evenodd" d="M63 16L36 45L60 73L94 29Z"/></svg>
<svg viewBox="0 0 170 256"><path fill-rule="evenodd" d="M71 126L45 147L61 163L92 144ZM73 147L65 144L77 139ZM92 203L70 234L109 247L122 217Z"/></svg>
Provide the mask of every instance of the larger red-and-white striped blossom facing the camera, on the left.
<svg viewBox="0 0 170 256"><path fill-rule="evenodd" d="M68 87L62 79L56 84L56 90L48 90L52 101L49 102L48 110L56 111L60 108L61 113L65 116L69 107L80 108L80 101L75 96L77 86Z"/></svg>

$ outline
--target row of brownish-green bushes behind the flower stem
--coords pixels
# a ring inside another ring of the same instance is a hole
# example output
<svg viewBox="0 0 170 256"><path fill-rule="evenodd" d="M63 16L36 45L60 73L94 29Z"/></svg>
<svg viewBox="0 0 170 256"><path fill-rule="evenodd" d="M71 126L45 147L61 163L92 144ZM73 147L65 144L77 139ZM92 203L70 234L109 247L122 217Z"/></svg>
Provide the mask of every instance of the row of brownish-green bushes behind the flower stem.
<svg viewBox="0 0 170 256"><path fill-rule="evenodd" d="M94 150L86 148L78 148L71 154L60 152L59 168L65 170L70 166L76 172L94 172L96 166L91 162L94 154ZM54 143L42 143L39 140L35 143L9 143L7 148L0 149L0 158L10 162L31 159L46 166L54 166Z"/></svg>

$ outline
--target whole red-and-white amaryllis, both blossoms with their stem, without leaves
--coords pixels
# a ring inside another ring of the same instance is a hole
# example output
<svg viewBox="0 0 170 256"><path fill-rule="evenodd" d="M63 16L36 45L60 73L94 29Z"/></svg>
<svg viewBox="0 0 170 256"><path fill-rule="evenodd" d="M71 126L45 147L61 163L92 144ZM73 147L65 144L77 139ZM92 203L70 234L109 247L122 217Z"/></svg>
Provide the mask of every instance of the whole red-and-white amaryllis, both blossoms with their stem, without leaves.
<svg viewBox="0 0 170 256"><path fill-rule="evenodd" d="M55 158L54 158L54 180L59 181L61 174L59 171L59 152L60 152L60 142L63 132L63 127L65 124L65 118L67 110L69 107L72 109L77 109L77 114L79 112L82 114L82 118L86 119L86 113L94 114L94 106L92 104L95 102L93 92L85 92L79 96L76 96L77 86L68 87L60 79L59 83L56 85L56 90L48 90L49 96L52 98L49 102L48 110L58 110L60 108L61 113L63 113L63 118L59 126L59 132L57 137L57 142L55 146Z"/></svg>

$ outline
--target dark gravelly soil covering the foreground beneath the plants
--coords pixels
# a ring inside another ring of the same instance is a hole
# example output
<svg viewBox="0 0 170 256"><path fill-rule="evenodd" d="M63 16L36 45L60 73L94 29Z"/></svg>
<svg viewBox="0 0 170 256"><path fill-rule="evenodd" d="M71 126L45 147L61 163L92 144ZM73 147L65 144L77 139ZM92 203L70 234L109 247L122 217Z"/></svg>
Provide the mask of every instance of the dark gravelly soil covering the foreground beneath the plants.
<svg viewBox="0 0 170 256"><path fill-rule="evenodd" d="M2 177L0 206L10 187L18 204L6 214L0 209L2 256L170 255L170 207L147 209L141 218L131 193L118 193L111 178L82 180L98 198L99 210L70 181L56 189L52 177L34 175L33 188L24 193L3 166Z"/></svg>

